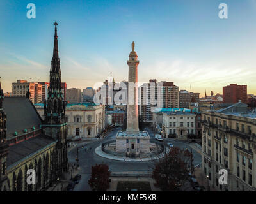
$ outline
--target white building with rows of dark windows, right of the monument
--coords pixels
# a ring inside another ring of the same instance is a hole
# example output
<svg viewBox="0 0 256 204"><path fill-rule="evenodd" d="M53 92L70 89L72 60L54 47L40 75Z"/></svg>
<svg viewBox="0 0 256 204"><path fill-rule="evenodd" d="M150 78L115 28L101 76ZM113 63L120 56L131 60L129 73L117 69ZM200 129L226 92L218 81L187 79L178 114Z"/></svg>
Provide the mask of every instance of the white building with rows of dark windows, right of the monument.
<svg viewBox="0 0 256 204"><path fill-rule="evenodd" d="M186 140L188 135L196 133L196 115L182 111L163 112L163 136L175 135L176 138Z"/></svg>

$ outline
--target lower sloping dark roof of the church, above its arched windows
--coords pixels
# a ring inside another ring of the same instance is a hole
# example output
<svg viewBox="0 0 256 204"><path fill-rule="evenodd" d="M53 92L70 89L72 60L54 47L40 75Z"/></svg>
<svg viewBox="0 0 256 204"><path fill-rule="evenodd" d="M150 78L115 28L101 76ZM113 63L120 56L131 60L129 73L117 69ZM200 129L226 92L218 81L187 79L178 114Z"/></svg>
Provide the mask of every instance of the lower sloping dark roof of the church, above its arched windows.
<svg viewBox="0 0 256 204"><path fill-rule="evenodd" d="M38 135L34 138L29 138L29 140L24 140L23 142L11 145L9 147L9 154L7 157L7 166L21 162L33 154L36 154L45 147L56 143L56 140L45 135Z"/></svg>

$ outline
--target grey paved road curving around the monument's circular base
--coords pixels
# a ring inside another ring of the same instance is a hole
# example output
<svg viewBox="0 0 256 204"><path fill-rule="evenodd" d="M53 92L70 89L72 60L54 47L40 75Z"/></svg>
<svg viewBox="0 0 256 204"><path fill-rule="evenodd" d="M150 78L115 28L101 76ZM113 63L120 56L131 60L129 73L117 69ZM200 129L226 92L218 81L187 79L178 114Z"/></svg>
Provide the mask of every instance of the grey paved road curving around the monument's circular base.
<svg viewBox="0 0 256 204"><path fill-rule="evenodd" d="M79 174L82 175L82 179L79 184L76 184L74 191L91 191L90 186L88 185L88 179L90 178L91 166L95 164L105 163L108 164L110 171L148 171L152 170L153 161L141 161L141 162L125 162L125 161L115 161L112 159L106 159L95 154L95 148L99 147L103 142L108 140L113 140L115 138L116 132L120 130L118 128L115 131L111 131L106 138L101 140L93 140L93 142L82 142L77 145L79 148L79 166L81 168ZM154 139L154 133L147 128L148 133L152 140ZM186 144L182 142L176 142L172 139L164 139L163 143L172 141L174 146L180 148L186 148ZM82 149L83 146L83 149ZM76 163L76 152L77 147L68 152L68 162ZM194 165L201 163L201 156L195 150L194 154Z"/></svg>

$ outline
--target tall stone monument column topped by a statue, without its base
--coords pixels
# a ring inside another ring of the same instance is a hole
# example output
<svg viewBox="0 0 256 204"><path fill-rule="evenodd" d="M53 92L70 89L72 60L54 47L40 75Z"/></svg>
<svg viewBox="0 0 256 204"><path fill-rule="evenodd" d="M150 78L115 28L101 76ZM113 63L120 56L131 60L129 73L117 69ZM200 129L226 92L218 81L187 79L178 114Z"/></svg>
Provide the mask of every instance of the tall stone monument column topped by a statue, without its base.
<svg viewBox="0 0 256 204"><path fill-rule="evenodd" d="M127 132L139 131L139 111L138 111L138 56L134 51L134 41L132 41L132 51L127 61L129 66L128 104L127 104Z"/></svg>

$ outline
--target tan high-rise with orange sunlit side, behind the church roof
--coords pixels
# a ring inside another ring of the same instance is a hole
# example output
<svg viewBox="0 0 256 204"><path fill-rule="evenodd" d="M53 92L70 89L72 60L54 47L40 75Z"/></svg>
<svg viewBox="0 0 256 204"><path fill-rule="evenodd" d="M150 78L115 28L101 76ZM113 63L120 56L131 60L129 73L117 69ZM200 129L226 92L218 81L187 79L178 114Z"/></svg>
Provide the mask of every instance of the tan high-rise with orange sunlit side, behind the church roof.
<svg viewBox="0 0 256 204"><path fill-rule="evenodd" d="M26 80L17 80L12 83L12 96L26 97L26 92L30 92L30 100L32 103L40 103L42 101L42 85L38 82L28 82Z"/></svg>

